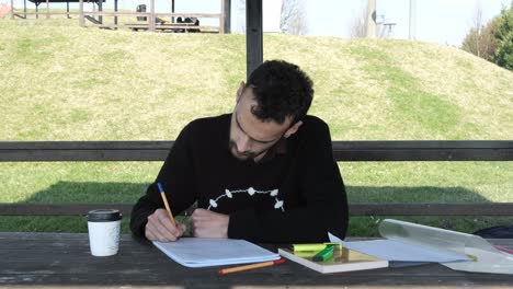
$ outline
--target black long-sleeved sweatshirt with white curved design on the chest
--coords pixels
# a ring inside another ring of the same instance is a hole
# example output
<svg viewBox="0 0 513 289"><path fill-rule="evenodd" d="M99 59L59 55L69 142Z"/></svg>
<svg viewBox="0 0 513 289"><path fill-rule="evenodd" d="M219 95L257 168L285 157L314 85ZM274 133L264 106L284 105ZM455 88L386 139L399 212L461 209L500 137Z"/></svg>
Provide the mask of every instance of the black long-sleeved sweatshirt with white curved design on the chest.
<svg viewBox="0 0 513 289"><path fill-rule="evenodd" d="M164 207L160 182L173 215L195 201L229 215L231 239L307 243L327 241L327 232L344 238L347 200L328 125L306 116L296 134L255 163L231 155L230 117L196 119L180 132L157 180L134 207L134 234L144 236L147 217Z"/></svg>

